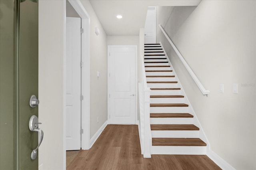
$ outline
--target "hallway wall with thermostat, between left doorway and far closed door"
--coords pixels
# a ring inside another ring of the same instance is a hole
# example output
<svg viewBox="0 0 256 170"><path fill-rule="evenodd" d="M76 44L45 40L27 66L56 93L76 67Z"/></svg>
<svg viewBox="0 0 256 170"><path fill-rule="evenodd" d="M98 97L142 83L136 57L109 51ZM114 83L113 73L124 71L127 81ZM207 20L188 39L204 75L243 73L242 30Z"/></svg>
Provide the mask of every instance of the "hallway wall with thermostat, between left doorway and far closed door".
<svg viewBox="0 0 256 170"><path fill-rule="evenodd" d="M107 121L107 37L90 1L82 0L81 3L90 16L90 137L92 138ZM95 34L95 27L100 30L100 35L98 36ZM99 79L97 78L97 71L100 72ZM99 117L98 123L97 117Z"/></svg>

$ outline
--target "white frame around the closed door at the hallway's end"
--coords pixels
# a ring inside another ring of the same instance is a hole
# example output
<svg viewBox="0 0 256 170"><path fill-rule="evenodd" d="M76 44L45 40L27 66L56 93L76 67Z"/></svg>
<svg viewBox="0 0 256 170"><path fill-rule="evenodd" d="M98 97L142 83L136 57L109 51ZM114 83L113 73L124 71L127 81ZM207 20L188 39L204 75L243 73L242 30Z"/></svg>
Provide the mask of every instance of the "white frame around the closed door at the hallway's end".
<svg viewBox="0 0 256 170"><path fill-rule="evenodd" d="M109 58L109 52L111 47L135 47L135 124L137 124L138 121L138 48L137 45L108 45L108 120L110 117L110 58Z"/></svg>

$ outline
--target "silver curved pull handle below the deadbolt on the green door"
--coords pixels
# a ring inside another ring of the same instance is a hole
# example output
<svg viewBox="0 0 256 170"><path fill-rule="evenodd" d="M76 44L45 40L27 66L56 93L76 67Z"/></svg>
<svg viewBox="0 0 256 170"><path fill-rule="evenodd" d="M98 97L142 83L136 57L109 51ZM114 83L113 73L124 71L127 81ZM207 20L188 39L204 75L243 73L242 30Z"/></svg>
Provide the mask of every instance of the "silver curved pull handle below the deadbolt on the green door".
<svg viewBox="0 0 256 170"><path fill-rule="evenodd" d="M39 124L42 124L42 123L38 123L38 117L36 115L32 115L30 117L30 120L29 120L29 129L32 131L32 132L38 132L38 135L39 135L39 142L38 142L38 146L32 150L31 152L31 155L30 155L30 158L32 160L35 160L36 159L36 156L37 156L37 150L40 146L40 144L42 143L43 141L43 138L44 138L44 131L40 128L38 128L38 125Z"/></svg>

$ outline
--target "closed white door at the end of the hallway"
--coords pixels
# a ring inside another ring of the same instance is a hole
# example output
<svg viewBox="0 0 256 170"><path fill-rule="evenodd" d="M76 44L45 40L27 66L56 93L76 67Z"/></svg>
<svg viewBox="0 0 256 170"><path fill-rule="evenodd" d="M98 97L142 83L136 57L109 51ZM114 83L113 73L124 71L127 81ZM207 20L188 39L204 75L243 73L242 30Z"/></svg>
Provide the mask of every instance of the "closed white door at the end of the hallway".
<svg viewBox="0 0 256 170"><path fill-rule="evenodd" d="M108 46L109 123L135 124L136 46Z"/></svg>

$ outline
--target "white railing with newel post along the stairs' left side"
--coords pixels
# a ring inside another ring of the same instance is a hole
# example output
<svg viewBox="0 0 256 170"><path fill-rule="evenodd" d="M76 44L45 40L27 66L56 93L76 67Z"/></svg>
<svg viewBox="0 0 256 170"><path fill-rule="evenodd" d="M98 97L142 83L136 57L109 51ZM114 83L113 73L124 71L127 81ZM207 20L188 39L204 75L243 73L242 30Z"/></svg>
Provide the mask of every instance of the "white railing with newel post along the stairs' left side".
<svg viewBox="0 0 256 170"><path fill-rule="evenodd" d="M147 86L144 57L141 56L141 79L139 83L141 151L144 158L151 158L152 135L150 128L150 88Z"/></svg>

